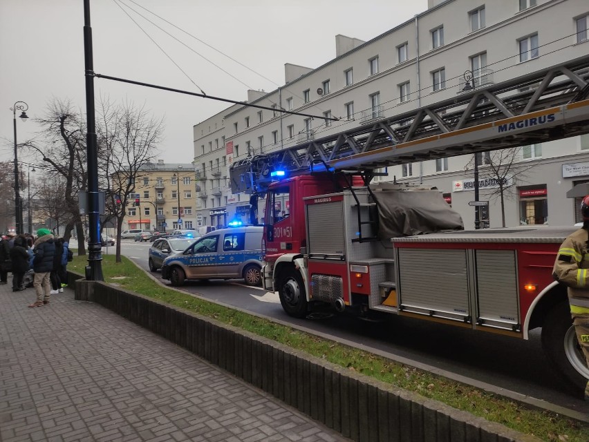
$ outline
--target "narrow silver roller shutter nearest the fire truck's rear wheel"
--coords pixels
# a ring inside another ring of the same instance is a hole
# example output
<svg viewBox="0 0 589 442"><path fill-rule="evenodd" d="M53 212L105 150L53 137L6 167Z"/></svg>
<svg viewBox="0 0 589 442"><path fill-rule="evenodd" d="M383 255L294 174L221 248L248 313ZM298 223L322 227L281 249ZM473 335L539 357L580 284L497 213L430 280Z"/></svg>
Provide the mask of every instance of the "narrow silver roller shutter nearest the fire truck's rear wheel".
<svg viewBox="0 0 589 442"><path fill-rule="evenodd" d="M515 251L476 251L478 325L518 329L516 271Z"/></svg>

